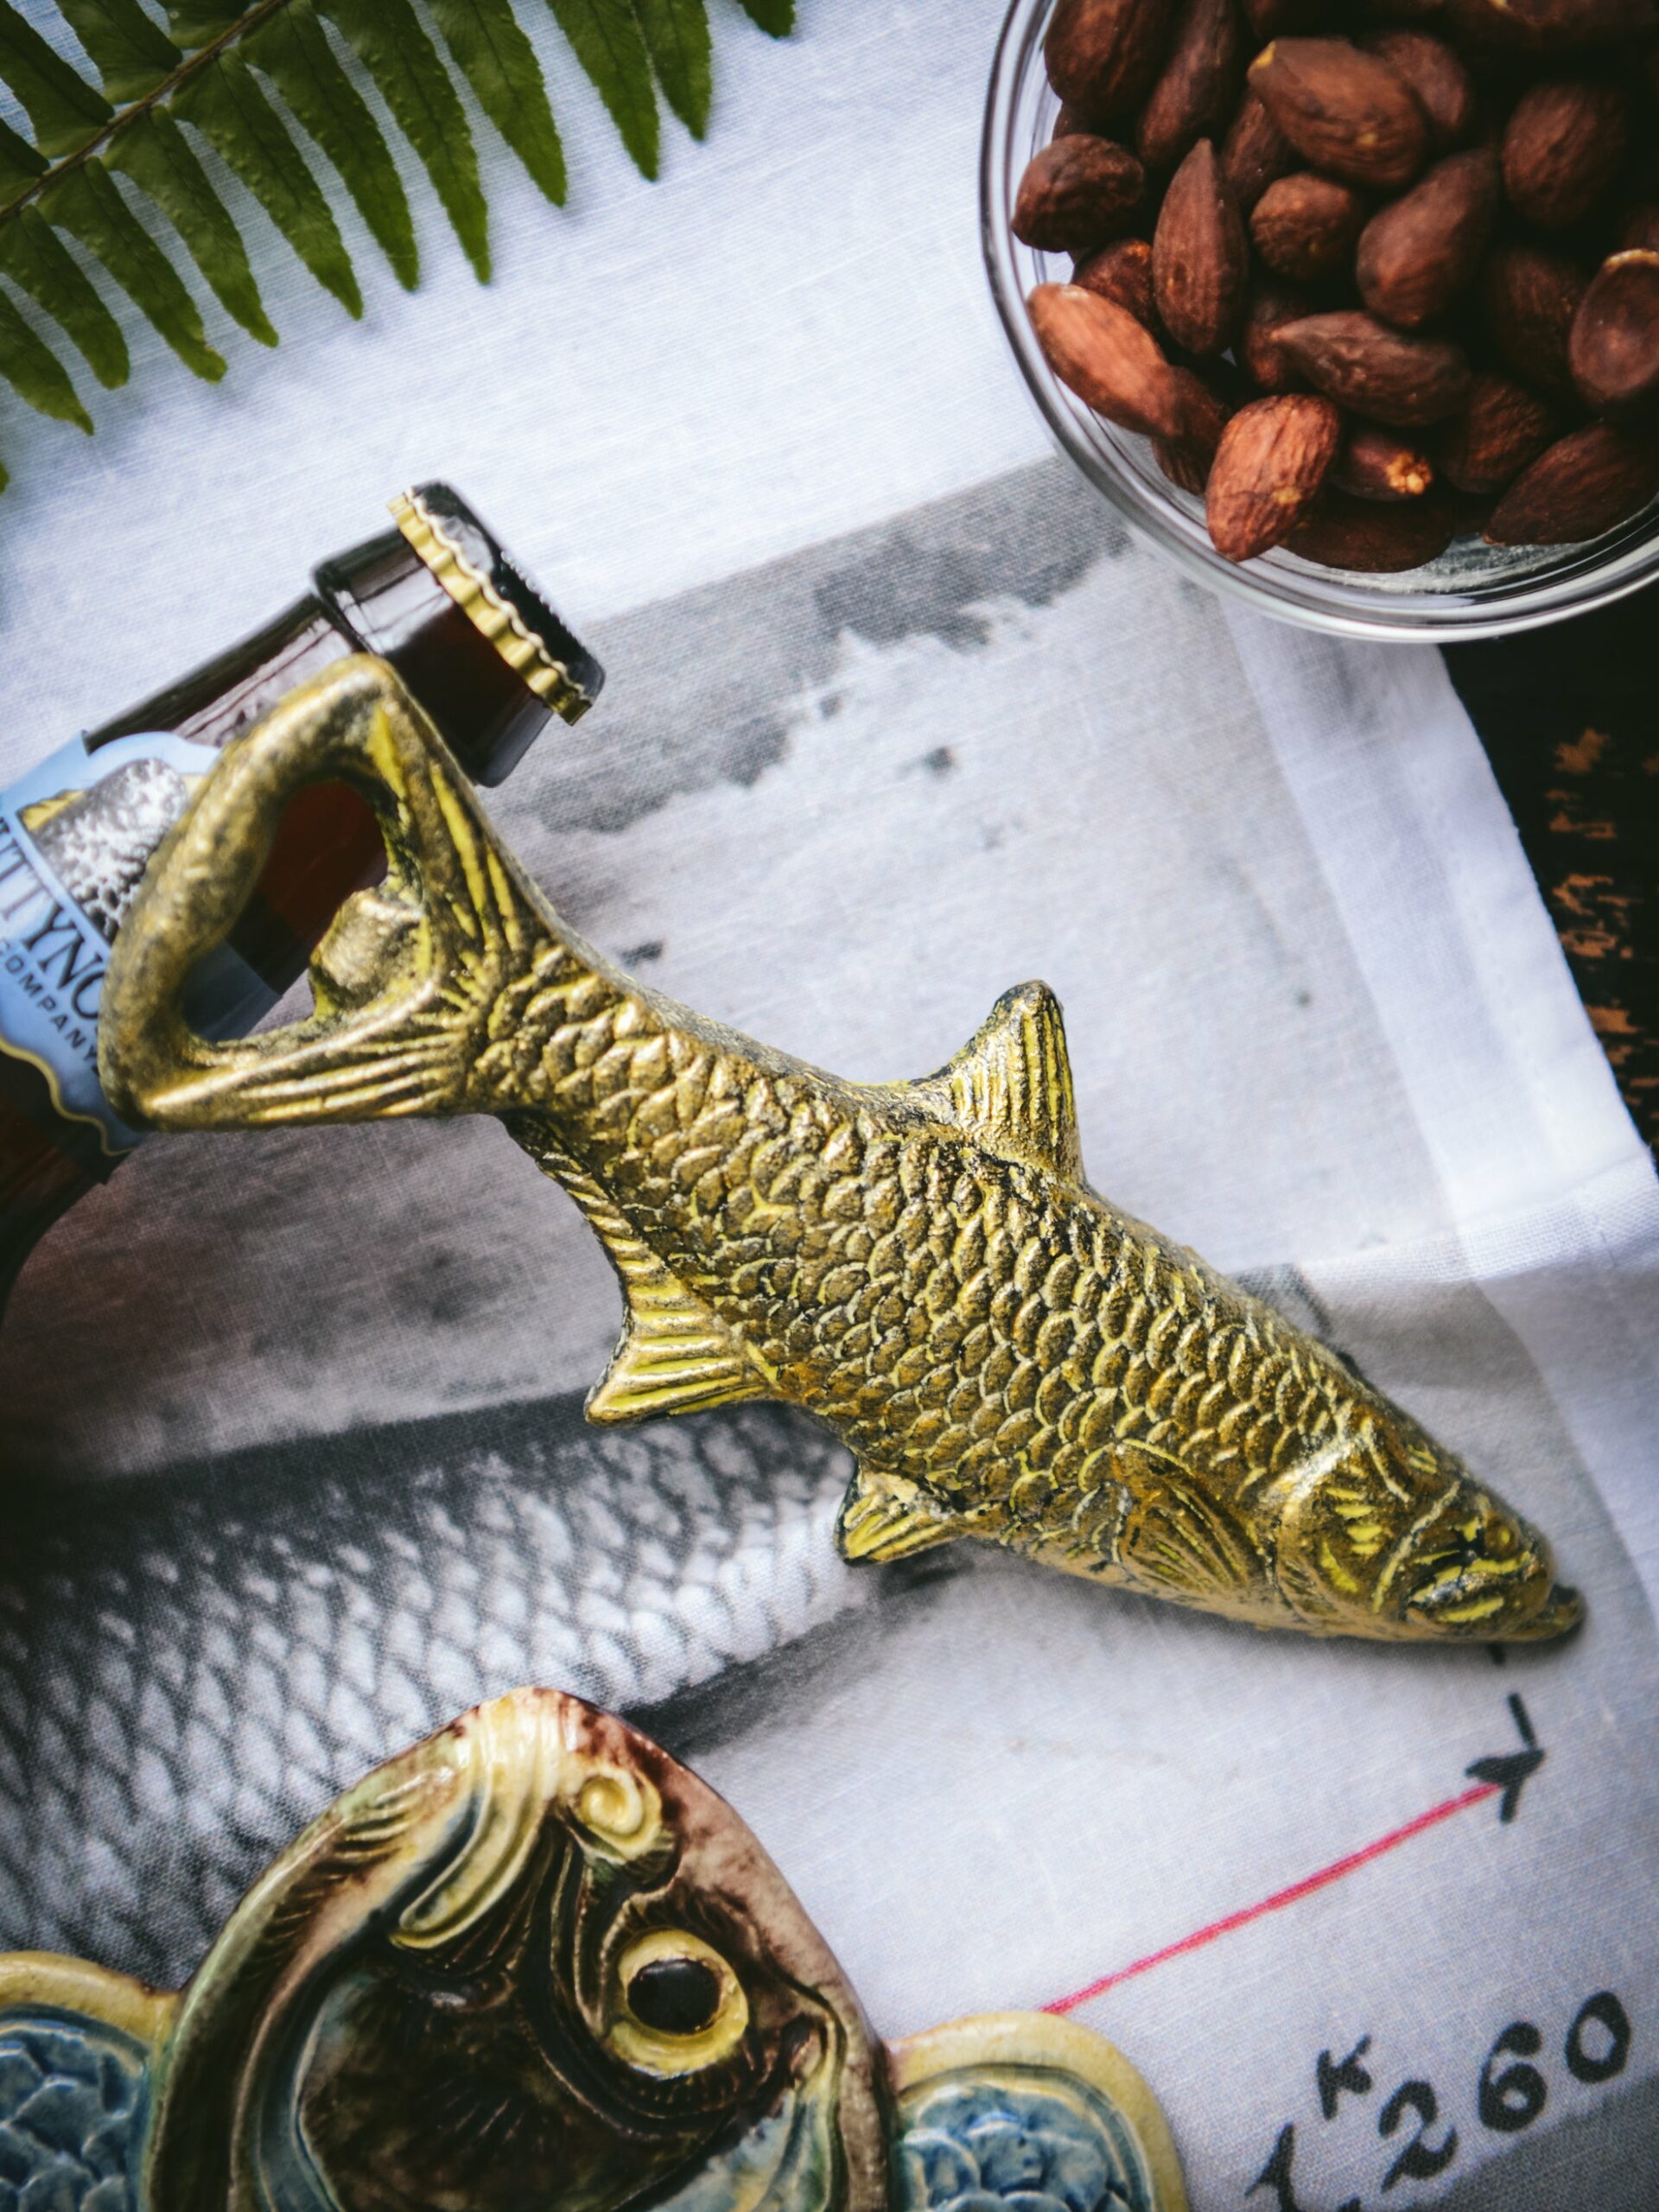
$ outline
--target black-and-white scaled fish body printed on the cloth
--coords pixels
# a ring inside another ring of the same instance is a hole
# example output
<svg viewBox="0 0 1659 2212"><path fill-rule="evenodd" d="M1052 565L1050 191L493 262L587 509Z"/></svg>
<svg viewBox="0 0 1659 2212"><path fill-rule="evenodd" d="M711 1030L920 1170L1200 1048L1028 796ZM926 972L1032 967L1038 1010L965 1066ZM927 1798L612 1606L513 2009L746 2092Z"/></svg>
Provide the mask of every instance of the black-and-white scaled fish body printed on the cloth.
<svg viewBox="0 0 1659 2212"><path fill-rule="evenodd" d="M783 1407L358 1431L7 1522L0 1949L188 1975L387 1754L518 1683L639 1708L878 1595ZM9 2208L7 2208L9 2212Z"/></svg>

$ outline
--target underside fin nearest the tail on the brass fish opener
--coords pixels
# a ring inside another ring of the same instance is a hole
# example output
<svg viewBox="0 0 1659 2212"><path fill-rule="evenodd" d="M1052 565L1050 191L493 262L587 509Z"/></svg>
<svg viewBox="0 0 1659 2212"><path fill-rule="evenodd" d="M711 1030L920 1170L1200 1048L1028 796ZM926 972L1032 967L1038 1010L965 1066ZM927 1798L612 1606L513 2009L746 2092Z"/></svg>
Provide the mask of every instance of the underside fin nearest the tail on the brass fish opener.
<svg viewBox="0 0 1659 2212"><path fill-rule="evenodd" d="M770 1396L765 1369L741 1336L657 1259L586 1168L553 1150L529 1119L509 1126L542 1172L571 1192L622 1279L622 1336L588 1391L588 1420L611 1427Z"/></svg>

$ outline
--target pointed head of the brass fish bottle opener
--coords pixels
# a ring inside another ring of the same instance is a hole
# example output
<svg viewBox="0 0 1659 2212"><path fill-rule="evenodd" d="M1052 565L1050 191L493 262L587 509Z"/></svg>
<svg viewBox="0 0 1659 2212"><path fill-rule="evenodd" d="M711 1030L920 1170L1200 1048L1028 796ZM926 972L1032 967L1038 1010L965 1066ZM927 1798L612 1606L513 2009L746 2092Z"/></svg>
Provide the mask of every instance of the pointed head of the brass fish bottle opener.
<svg viewBox="0 0 1659 2212"><path fill-rule="evenodd" d="M1584 1617L1540 1528L1376 1398L1281 1484L1276 1584L1325 1635L1544 1641Z"/></svg>

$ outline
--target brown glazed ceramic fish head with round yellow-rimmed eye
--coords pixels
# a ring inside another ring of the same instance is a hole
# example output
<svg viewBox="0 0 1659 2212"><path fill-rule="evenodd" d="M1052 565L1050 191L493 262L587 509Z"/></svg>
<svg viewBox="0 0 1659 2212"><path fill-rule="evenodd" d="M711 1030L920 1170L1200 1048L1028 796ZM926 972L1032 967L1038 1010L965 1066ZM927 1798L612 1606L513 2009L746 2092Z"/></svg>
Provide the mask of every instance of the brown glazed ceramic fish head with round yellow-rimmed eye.
<svg viewBox="0 0 1659 2212"><path fill-rule="evenodd" d="M316 1823L175 2046L146 2201L179 2212L885 2203L874 2042L823 1938L712 1790L551 1690Z"/></svg>

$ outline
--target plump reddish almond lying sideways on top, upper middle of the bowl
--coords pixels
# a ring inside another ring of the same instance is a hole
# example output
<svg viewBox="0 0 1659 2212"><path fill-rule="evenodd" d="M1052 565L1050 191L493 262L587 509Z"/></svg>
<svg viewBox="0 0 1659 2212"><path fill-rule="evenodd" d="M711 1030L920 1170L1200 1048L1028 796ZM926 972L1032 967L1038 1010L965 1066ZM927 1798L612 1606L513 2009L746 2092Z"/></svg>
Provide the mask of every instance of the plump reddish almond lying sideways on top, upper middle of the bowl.
<svg viewBox="0 0 1659 2212"><path fill-rule="evenodd" d="M1429 124L1409 86L1376 53L1343 38L1276 38L1250 84L1312 168L1396 192L1429 155Z"/></svg>

